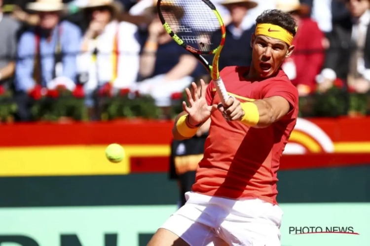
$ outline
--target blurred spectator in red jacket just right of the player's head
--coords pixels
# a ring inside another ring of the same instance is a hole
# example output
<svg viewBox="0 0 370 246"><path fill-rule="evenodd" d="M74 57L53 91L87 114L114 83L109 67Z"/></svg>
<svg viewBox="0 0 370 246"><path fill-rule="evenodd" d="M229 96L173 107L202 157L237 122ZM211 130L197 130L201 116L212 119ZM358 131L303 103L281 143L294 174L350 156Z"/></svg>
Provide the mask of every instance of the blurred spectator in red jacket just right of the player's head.
<svg viewBox="0 0 370 246"><path fill-rule="evenodd" d="M324 33L315 21L305 17L310 7L300 4L299 0L278 0L276 8L291 13L296 20L297 32L293 39L296 48L282 68L296 85L299 96L306 96L315 92L315 78L324 63Z"/></svg>

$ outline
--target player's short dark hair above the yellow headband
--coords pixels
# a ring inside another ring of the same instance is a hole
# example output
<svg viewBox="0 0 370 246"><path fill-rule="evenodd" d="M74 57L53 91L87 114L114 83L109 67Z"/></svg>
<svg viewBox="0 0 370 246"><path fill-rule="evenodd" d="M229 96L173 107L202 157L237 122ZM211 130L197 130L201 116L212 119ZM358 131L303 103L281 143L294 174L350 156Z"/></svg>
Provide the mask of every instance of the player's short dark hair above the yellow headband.
<svg viewBox="0 0 370 246"><path fill-rule="evenodd" d="M256 19L256 25L258 24L276 25L289 31L293 36L296 35L296 21L293 16L278 9L263 11Z"/></svg>

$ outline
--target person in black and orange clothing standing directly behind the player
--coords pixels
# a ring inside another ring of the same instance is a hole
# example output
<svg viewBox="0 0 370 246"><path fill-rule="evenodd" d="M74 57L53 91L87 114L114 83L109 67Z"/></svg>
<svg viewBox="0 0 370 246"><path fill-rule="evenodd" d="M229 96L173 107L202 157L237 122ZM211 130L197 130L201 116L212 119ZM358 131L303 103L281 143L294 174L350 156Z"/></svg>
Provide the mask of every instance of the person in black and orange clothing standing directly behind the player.
<svg viewBox="0 0 370 246"><path fill-rule="evenodd" d="M197 85L198 95L200 95L201 79L204 80L206 85L211 82L209 75L197 77L194 82ZM211 119L208 119L199 127L195 136L190 139L172 141L169 176L171 180L178 181L180 207L186 202L185 193L191 191L191 186L195 183L195 171L199 161L203 158L204 144L208 136L210 124Z"/></svg>

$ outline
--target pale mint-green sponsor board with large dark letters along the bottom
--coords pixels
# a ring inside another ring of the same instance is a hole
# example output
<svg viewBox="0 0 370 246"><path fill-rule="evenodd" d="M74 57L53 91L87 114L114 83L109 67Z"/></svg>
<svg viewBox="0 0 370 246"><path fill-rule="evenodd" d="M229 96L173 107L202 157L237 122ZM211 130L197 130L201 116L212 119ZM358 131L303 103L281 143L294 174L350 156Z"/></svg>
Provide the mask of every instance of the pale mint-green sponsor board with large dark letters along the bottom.
<svg viewBox="0 0 370 246"><path fill-rule="evenodd" d="M281 207L282 246L370 245L369 203ZM176 209L176 205L1 208L0 246L145 246ZM341 233L305 233L317 228Z"/></svg>

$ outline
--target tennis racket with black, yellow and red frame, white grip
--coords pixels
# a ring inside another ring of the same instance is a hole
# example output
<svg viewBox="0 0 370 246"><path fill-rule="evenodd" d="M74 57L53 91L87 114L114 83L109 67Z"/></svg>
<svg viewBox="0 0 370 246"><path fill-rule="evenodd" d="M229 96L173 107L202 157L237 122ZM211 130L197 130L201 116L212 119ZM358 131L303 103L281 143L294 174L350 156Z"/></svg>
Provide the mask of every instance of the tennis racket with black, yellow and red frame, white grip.
<svg viewBox="0 0 370 246"><path fill-rule="evenodd" d="M226 30L215 5L209 0L158 0L157 11L167 33L206 67L225 104L229 95L220 78L219 58ZM217 43L211 42L214 33L220 37ZM202 55L214 55L212 64Z"/></svg>

